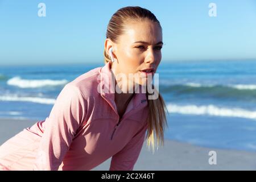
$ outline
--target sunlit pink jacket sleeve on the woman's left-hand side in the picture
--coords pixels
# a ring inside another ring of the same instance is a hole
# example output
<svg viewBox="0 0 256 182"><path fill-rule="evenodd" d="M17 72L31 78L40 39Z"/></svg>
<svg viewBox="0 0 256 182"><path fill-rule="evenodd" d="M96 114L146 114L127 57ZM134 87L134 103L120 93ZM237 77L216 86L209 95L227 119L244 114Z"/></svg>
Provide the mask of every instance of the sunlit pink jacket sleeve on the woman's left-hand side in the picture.
<svg viewBox="0 0 256 182"><path fill-rule="evenodd" d="M52 107L40 140L34 170L57 170L86 113L79 88L67 84Z"/></svg>

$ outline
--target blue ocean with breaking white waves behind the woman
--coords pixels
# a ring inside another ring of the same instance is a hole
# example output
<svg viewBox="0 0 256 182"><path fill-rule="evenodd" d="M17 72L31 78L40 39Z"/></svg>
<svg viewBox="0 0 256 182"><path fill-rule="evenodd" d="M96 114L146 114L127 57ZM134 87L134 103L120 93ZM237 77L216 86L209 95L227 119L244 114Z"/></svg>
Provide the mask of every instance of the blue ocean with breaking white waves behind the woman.
<svg viewBox="0 0 256 182"><path fill-rule="evenodd" d="M65 84L103 65L1 66L0 118L44 120ZM162 62L156 73L166 139L256 151L256 60Z"/></svg>

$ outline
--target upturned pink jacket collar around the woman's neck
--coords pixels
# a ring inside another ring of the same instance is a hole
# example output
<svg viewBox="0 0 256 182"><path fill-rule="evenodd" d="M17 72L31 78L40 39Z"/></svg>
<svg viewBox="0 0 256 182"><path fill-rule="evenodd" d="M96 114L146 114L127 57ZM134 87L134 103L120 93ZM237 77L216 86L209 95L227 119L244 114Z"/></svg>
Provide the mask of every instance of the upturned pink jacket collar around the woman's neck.
<svg viewBox="0 0 256 182"><path fill-rule="evenodd" d="M101 96L108 101L110 106L116 111L117 113L117 107L115 105L115 77L113 72L110 70L111 65L108 62L104 65L104 67L101 67L100 69L100 92ZM139 90L138 90L139 89ZM143 86L139 85L137 86L137 90L135 91L135 94L133 98L131 99L129 105L127 106L126 113L135 107L139 107L140 105L147 105L147 97L146 93L142 92ZM139 92L138 92L139 91Z"/></svg>

